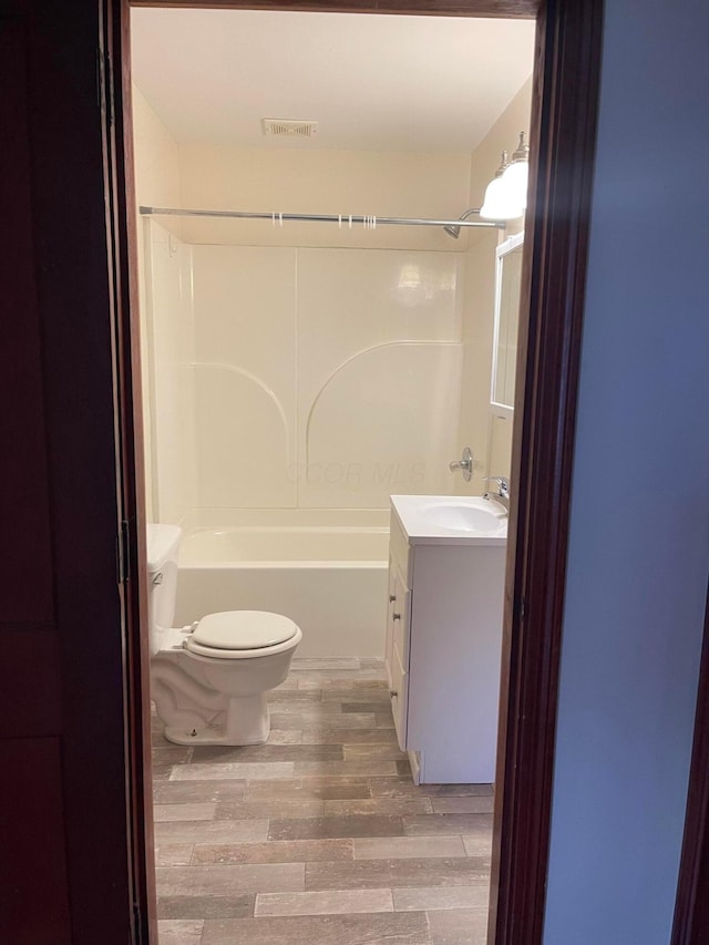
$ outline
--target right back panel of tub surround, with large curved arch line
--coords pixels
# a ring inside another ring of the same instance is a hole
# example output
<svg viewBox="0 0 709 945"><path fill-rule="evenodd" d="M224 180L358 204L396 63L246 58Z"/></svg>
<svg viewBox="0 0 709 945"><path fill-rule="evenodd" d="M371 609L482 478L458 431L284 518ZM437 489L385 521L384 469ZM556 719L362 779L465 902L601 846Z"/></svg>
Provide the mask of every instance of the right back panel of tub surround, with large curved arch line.
<svg viewBox="0 0 709 945"><path fill-rule="evenodd" d="M386 509L392 492L448 491L444 456L460 401L460 260L456 253L299 250L300 505Z"/></svg>

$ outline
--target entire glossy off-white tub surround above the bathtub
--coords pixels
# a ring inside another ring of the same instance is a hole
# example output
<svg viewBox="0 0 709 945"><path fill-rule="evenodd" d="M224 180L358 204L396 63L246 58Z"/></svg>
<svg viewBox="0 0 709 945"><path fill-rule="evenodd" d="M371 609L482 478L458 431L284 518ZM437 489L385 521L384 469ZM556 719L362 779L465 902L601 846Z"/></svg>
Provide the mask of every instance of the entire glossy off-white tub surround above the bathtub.
<svg viewBox="0 0 709 945"><path fill-rule="evenodd" d="M191 246L147 228L161 518L450 490L461 253Z"/></svg>

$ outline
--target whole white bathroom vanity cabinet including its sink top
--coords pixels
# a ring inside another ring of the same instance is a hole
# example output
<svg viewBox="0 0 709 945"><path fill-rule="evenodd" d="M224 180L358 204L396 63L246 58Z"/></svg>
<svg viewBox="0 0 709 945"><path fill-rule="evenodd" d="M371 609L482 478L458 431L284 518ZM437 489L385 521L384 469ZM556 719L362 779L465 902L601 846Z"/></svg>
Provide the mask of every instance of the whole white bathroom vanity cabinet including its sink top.
<svg viewBox="0 0 709 945"><path fill-rule="evenodd" d="M417 783L494 781L506 535L494 501L391 497L386 661Z"/></svg>

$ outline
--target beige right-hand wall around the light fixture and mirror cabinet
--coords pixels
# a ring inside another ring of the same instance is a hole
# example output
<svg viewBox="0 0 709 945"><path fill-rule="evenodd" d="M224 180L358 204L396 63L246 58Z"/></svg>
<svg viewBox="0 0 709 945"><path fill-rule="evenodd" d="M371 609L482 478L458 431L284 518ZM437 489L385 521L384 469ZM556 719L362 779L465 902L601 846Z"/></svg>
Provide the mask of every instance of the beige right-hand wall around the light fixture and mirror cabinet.
<svg viewBox="0 0 709 945"><path fill-rule="evenodd" d="M521 131L528 132L532 107L530 79L502 113L471 156L471 202L482 204L502 151L514 151ZM490 407L493 316L495 295L495 247L522 229L522 219L511 220L506 230L469 230L463 302L463 384L459 452L470 446L475 471L470 483L456 476L454 491L479 495L485 492L485 475L510 475L512 420L493 414Z"/></svg>

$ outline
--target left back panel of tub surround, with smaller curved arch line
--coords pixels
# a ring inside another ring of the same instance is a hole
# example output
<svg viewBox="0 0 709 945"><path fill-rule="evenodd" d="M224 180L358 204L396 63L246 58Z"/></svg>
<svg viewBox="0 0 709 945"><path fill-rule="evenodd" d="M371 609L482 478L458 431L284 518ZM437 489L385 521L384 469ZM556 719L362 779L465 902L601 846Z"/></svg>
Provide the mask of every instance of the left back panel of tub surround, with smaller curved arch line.
<svg viewBox="0 0 709 945"><path fill-rule="evenodd" d="M297 504L297 251L194 246L195 506Z"/></svg>

